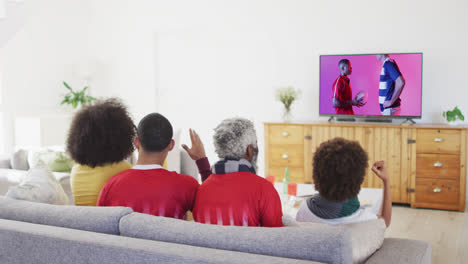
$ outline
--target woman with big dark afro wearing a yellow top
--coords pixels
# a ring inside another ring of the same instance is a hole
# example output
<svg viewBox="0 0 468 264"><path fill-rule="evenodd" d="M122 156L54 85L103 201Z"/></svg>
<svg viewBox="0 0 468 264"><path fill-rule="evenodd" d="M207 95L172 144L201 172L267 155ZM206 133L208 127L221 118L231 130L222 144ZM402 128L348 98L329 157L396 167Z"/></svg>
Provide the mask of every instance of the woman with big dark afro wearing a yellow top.
<svg viewBox="0 0 468 264"><path fill-rule="evenodd" d="M77 163L71 171L75 205L95 206L112 176L130 169L135 125L125 105L112 98L85 106L73 117L67 151Z"/></svg>

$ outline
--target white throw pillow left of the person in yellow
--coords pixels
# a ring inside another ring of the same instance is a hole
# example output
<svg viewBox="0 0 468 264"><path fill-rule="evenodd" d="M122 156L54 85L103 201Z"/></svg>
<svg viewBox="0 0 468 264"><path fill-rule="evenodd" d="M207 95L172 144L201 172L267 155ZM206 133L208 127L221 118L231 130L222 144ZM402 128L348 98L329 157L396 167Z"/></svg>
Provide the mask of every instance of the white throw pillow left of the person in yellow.
<svg viewBox="0 0 468 264"><path fill-rule="evenodd" d="M45 165L30 169L19 185L8 188L6 196L39 203L70 204L62 186Z"/></svg>

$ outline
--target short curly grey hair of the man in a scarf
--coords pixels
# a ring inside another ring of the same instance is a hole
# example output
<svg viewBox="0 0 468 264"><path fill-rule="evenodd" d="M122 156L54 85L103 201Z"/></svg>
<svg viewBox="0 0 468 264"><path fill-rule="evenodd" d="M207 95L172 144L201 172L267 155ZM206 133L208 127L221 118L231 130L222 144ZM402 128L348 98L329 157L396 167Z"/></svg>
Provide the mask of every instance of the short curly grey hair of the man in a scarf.
<svg viewBox="0 0 468 264"><path fill-rule="evenodd" d="M245 118L225 119L215 128L215 152L220 159L242 159L247 147L257 147L253 122Z"/></svg>

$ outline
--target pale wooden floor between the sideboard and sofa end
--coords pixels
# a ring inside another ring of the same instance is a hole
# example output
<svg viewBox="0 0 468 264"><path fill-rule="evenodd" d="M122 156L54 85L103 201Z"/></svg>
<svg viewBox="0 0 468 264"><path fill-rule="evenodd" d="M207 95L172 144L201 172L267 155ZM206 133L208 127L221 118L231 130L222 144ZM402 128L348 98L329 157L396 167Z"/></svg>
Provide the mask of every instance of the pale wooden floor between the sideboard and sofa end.
<svg viewBox="0 0 468 264"><path fill-rule="evenodd" d="M432 246L432 263L468 263L468 212L413 209L394 205L385 237L423 240Z"/></svg>

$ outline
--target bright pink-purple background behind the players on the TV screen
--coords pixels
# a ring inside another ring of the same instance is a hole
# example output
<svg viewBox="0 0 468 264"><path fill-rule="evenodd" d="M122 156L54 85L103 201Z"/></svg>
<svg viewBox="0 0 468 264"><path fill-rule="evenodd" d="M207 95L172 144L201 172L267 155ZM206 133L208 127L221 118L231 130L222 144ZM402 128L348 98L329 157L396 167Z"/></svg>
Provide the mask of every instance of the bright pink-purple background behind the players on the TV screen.
<svg viewBox="0 0 468 264"><path fill-rule="evenodd" d="M422 54L390 54L406 84L400 95L400 116L421 116ZM363 107L353 106L355 115L381 115L379 106L379 80L382 62L375 55L331 55L320 57L320 114L336 114L332 104L332 85L340 75L338 62L348 59L353 72L351 80L353 98L359 91L367 91L369 97Z"/></svg>

